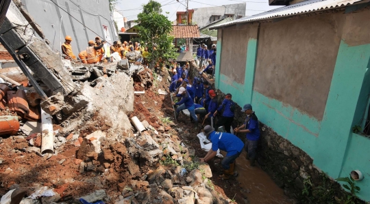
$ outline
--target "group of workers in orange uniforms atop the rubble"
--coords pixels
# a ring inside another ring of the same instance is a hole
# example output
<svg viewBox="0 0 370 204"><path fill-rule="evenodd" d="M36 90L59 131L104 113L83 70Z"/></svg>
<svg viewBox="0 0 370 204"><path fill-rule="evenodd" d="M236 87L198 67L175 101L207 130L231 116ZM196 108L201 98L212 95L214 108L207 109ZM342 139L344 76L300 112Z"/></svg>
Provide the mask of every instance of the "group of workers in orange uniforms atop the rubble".
<svg viewBox="0 0 370 204"><path fill-rule="evenodd" d="M82 50L78 54L79 60L77 60L77 57L73 54L71 42L71 36L67 35L65 42L62 44L64 59L81 61L82 63L120 61L121 59L128 59L130 63L145 63L145 58L149 55L147 48L140 46L138 42L125 41L122 44L121 41L115 41L112 46L108 46L105 40L101 40L97 36L95 41L88 41L86 50Z"/></svg>

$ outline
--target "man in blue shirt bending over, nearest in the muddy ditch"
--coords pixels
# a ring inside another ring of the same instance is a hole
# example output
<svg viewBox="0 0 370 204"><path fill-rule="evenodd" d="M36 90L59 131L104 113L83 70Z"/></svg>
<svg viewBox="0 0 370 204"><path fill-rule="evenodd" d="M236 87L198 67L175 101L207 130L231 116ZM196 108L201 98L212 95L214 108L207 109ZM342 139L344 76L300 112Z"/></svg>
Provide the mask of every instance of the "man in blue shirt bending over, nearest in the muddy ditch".
<svg viewBox="0 0 370 204"><path fill-rule="evenodd" d="M204 127L204 134L207 136L207 139L212 142L212 148L204 158L200 158L199 160L201 162L209 162L216 156L217 150L221 149L227 152L221 162L222 168L224 169L221 178L229 179L233 175L238 175L237 172L234 172L235 160L240 156L241 151L243 151L243 141L234 134L216 132L211 126Z"/></svg>

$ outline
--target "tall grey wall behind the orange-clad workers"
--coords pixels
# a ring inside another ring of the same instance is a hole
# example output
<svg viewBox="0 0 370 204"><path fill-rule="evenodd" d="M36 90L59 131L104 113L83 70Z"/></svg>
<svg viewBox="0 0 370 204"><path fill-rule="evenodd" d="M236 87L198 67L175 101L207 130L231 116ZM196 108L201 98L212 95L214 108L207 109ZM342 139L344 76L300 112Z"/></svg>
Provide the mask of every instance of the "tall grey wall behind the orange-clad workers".
<svg viewBox="0 0 370 204"><path fill-rule="evenodd" d="M108 40L108 42L116 40L116 32L110 17L108 0L22 0L22 3L29 14L36 20L36 23L42 28L46 38L51 42L50 46L53 50L60 51L60 46L64 43L66 35L71 35L73 39L71 44L73 53L76 56L79 52L86 49L88 40L95 40L97 35ZM58 8L58 5L60 8ZM78 5L81 5L81 7L79 8ZM64 12L64 10L80 23ZM86 29L81 23L95 33ZM108 27L110 39L106 38L103 25Z"/></svg>

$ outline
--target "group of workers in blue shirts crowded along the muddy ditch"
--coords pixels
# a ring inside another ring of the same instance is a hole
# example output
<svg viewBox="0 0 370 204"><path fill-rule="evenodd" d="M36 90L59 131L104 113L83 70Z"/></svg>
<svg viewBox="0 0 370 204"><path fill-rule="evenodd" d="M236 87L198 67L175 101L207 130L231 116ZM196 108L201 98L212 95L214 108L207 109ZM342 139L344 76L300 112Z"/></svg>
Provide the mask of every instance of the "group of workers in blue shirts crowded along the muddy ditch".
<svg viewBox="0 0 370 204"><path fill-rule="evenodd" d="M173 105L177 106L175 117L179 116L180 111L188 109L190 120L195 123L195 128L198 128L197 115L200 119L207 120L210 123L210 125L204 127L204 134L212 142L212 149L208 151L204 158L200 159L201 162L212 160L217 155L218 149L226 151L226 156L221 162L224 169L221 179L229 179L238 175L234 171L235 161L244 147L247 151L245 158L250 161L251 166L255 166L260 130L258 118L251 104L245 104L241 110L247 115L243 125L232 129L236 109L236 104L232 101L232 94L227 93L222 103L219 104L217 93L208 81L201 77L194 77L193 83L189 83L188 64L180 66L180 64L174 63L172 74L169 89L171 94L180 98L178 102L173 102ZM214 123L215 118L217 118L216 123ZM231 133L232 130L234 134ZM235 135L237 133L246 134L245 143Z"/></svg>

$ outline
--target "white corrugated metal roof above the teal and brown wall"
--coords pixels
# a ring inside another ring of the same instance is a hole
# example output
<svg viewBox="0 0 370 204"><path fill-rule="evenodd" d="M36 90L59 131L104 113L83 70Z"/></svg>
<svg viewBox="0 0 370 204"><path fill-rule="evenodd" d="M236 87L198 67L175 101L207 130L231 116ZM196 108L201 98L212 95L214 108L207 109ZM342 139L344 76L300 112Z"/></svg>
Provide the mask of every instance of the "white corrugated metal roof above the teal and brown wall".
<svg viewBox="0 0 370 204"><path fill-rule="evenodd" d="M279 18L284 16L293 16L296 14L304 14L308 12L314 12L319 10L327 10L332 8L339 8L345 5L351 5L356 2L364 0L308 0L296 3L293 5L287 5L282 8L277 8L275 10L269 10L267 12L262 12L253 16L247 16L240 18L238 20L233 20L231 22L215 25L210 27L210 29L215 29L217 27L224 27L226 25L233 25L238 23L246 23L256 20L266 20L269 18ZM365 2L365 1L364 1Z"/></svg>

